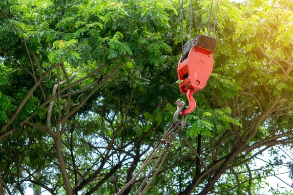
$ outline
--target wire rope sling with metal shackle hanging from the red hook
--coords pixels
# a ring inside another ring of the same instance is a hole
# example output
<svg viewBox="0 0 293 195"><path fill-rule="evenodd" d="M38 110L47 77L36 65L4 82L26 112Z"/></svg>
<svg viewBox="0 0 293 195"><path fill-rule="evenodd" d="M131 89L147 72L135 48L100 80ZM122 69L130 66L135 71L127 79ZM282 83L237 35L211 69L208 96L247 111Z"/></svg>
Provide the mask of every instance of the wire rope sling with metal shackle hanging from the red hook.
<svg viewBox="0 0 293 195"><path fill-rule="evenodd" d="M162 145L166 144L165 147L163 148L163 150L161 151L159 157L157 158L154 166L152 167L150 172L147 174L147 176L144 179L143 183L139 186L139 188L137 189L137 191L135 192L134 195L137 195L140 192L141 188L146 184L147 179L151 177L149 182L147 183L146 187L143 189L143 191L140 194L140 195L143 195L145 193L146 189L148 188L148 186L150 185L150 183L153 181L155 176L160 171L160 168L162 167L162 165L163 165L163 163L165 161L165 158L167 156L168 149L170 147L173 147L172 141L175 139L175 137L178 134L178 132L180 131L180 129L185 125L186 119L187 119L187 117L185 116L184 119L183 119L183 122L180 122L178 120L179 113L185 108L185 102L183 102L183 101L181 102L181 101L177 100L176 104L178 105L178 108L177 108L177 111L174 114L173 123L170 125L170 127L168 128L167 132L162 137L162 139L160 139L159 143L157 143L157 145L152 149L150 154L146 157L145 162L143 163L141 168L138 170L138 172L135 174L135 176L133 176L132 179L130 181L128 181L127 184L116 195L122 195L123 194L123 192L135 181L135 179L139 176L139 174L146 168L147 164L158 153L158 151L160 150ZM168 141L166 141L167 139L168 139ZM163 154L164 154L164 156L163 156ZM162 158L162 156L163 156L163 158ZM161 158L162 158L162 160L161 160ZM151 173L155 170L155 168L157 167L157 165L160 162L160 160L161 160L161 163L159 164L156 172L151 176Z"/></svg>

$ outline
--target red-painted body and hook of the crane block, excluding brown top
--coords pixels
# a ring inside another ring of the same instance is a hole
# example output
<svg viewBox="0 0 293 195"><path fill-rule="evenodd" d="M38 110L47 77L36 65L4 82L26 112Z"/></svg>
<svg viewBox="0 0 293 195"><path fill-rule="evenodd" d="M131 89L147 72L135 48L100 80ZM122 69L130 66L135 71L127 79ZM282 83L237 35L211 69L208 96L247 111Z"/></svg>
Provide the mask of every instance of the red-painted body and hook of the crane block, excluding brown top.
<svg viewBox="0 0 293 195"><path fill-rule="evenodd" d="M181 111L181 115L189 115L196 107L193 94L203 89L207 85L207 80L212 72L213 58L212 51L202 47L194 46L188 58L178 63L178 78L183 80L179 83L180 91L187 95L189 106Z"/></svg>

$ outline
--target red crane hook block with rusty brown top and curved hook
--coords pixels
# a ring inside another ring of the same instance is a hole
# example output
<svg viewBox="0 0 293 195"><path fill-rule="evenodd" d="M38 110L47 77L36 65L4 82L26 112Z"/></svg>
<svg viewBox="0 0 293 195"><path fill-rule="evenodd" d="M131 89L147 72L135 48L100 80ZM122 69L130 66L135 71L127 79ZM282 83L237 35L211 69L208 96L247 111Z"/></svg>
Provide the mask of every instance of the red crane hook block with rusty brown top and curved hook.
<svg viewBox="0 0 293 195"><path fill-rule="evenodd" d="M207 80L212 72L212 53L216 49L217 39L198 35L183 48L183 55L178 62L178 78L181 93L188 98L188 108L181 111L181 115L189 115L196 107L193 94L207 85Z"/></svg>

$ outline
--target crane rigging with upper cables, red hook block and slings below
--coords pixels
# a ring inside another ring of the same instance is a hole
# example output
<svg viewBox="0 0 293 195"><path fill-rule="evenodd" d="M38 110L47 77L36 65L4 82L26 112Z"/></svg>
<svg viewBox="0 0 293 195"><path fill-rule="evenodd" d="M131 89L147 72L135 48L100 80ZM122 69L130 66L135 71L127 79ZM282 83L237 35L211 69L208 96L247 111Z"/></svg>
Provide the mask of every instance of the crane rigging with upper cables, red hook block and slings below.
<svg viewBox="0 0 293 195"><path fill-rule="evenodd" d="M157 160L155 161L153 167L138 187L134 195L138 195L142 189L140 195L143 195L146 192L146 189L153 181L155 176L159 173L165 158L167 156L167 151L170 147L173 147L172 141L175 139L176 135L179 131L183 128L183 126L187 122L187 116L191 114L196 107L196 102L193 98L193 94L203 89L206 84L209 76L212 72L213 68L213 56L212 53L216 49L217 40L214 38L216 20L217 20L217 11L219 0L217 1L216 13L215 13L215 20L214 20L214 27L212 37L209 37L209 27L210 27L210 18L211 18L211 11L212 11L212 4L213 0L211 0L210 5L210 12L209 12L209 26L208 26L208 33L207 36L205 35L198 35L194 39L190 39L191 37L191 21L192 21L192 0L190 0L190 22L189 22L189 42L184 45L184 29L183 29L183 20L184 20L184 0L182 0L182 55L178 62L178 79L182 80L179 83L179 88L181 93L187 95L188 99L188 107L186 103L181 100L176 101L177 111L174 113L173 123L165 133L165 135L160 139L159 143L152 149L150 154L146 157L141 168L138 172L130 179L130 181L116 194L122 195L123 192L133 184L133 182L137 179L139 174L146 168L149 162L156 156L159 150L162 148L162 151L159 153ZM183 115L183 121L181 122L178 120L178 116ZM160 163L160 164L159 164ZM158 166L159 164L159 166ZM157 167L158 166L158 167ZM157 169L156 169L157 167ZM155 173L154 170L156 169ZM147 182L147 180L149 181ZM147 184L146 184L147 182Z"/></svg>

